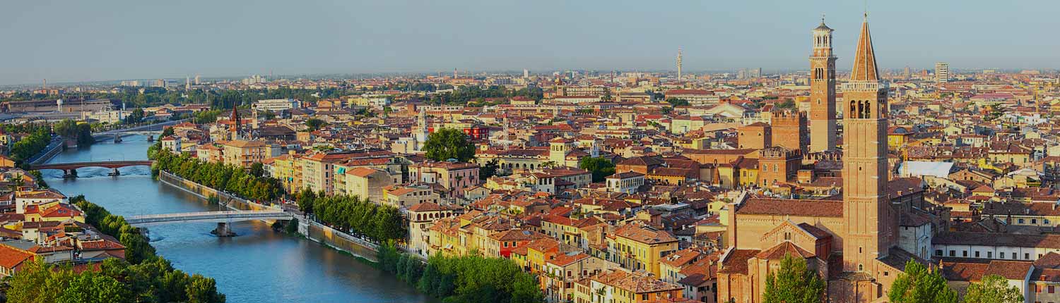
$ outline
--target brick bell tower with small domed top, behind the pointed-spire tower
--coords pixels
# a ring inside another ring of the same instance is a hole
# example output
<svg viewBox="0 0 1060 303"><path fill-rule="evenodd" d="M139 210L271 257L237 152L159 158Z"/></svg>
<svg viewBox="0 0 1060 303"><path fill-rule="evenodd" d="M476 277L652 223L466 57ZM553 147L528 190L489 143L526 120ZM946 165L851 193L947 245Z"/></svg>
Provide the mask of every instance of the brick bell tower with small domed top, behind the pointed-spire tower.
<svg viewBox="0 0 1060 303"><path fill-rule="evenodd" d="M810 56L810 152L835 149L835 59L832 29L822 17Z"/></svg>

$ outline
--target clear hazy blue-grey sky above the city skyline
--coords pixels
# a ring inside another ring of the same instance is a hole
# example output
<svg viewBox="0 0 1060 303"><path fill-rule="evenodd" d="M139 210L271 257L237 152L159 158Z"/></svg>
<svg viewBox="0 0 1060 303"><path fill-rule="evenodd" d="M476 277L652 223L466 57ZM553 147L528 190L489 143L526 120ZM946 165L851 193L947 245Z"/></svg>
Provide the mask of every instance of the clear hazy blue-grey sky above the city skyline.
<svg viewBox="0 0 1060 303"><path fill-rule="evenodd" d="M881 69L1060 68L1060 1L872 0ZM858 0L33 0L0 3L0 86L252 74L808 69Z"/></svg>

